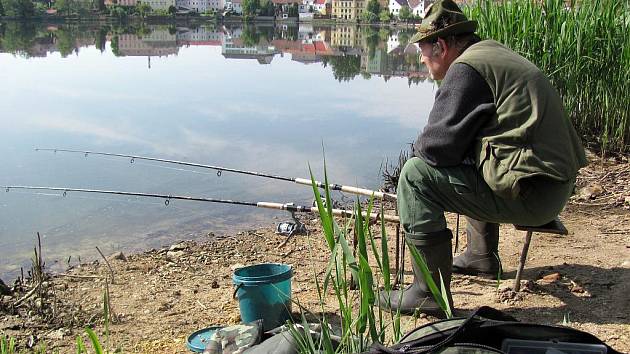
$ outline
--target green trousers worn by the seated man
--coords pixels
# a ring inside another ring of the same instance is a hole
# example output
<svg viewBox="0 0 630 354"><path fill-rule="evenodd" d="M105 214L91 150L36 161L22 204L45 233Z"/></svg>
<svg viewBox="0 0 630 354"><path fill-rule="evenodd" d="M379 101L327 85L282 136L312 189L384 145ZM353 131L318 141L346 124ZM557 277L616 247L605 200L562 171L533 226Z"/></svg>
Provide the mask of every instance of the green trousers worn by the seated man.
<svg viewBox="0 0 630 354"><path fill-rule="evenodd" d="M553 220L573 192L575 181L528 178L517 199L497 196L475 166L432 167L409 159L398 180L398 212L408 238L427 240L446 229L444 212L492 223L538 226Z"/></svg>

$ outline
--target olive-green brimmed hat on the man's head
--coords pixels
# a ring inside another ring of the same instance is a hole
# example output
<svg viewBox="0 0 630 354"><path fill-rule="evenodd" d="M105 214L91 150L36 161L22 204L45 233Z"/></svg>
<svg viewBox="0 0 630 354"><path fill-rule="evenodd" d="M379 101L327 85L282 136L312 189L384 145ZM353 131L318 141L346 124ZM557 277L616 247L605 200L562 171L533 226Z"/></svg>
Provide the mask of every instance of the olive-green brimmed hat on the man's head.
<svg viewBox="0 0 630 354"><path fill-rule="evenodd" d="M438 37L473 33L476 29L477 21L469 21L453 0L437 0L427 8L418 33L414 34L409 42L416 43Z"/></svg>

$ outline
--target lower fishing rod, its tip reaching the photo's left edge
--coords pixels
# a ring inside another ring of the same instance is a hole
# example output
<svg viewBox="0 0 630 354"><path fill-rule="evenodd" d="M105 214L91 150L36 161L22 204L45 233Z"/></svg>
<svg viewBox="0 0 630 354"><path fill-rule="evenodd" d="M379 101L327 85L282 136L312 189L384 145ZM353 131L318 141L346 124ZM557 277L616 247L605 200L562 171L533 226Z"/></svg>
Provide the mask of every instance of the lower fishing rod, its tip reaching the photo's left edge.
<svg viewBox="0 0 630 354"><path fill-rule="evenodd" d="M127 196L135 196L135 197L150 197L150 198L162 198L164 199L164 204L169 205L171 200L188 200L188 201L196 201L196 202L209 202L209 203L221 203L221 204L235 204L235 205L245 205L252 206L258 208L267 208L267 209L276 209L276 210L286 210L292 213L318 213L319 209L317 207L310 206L302 206L302 205L294 205L293 203L272 203L272 202L243 202L236 201L230 199L215 199L215 198L202 198L202 197L190 197L190 196L182 196L182 195L167 195L167 194L153 194L153 193L137 193L137 192L123 192L123 191L109 191L109 190L99 190L99 189L80 189L80 188L65 188L65 187L39 187L39 186L1 186L6 192L11 191L12 189L25 189L25 190L47 190L47 191L57 191L63 192L62 196L66 196L68 192L80 192L80 193L98 193L98 194L116 194L116 195L127 195ZM332 209L332 213L335 216L342 217L353 217L354 212L352 210L346 209ZM368 217L367 212L362 212L363 217ZM399 219L396 215L382 215L383 220L386 222L398 223ZM380 213L370 213L370 219L380 220Z"/></svg>

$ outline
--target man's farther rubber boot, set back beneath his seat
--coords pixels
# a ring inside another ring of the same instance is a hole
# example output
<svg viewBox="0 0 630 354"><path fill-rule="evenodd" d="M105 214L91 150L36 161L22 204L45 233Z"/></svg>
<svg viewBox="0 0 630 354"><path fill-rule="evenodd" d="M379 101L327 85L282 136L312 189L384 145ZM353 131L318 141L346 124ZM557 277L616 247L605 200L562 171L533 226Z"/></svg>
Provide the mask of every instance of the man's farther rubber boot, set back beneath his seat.
<svg viewBox="0 0 630 354"><path fill-rule="evenodd" d="M499 261L499 224L466 218L466 251L453 260L453 273L496 279Z"/></svg>

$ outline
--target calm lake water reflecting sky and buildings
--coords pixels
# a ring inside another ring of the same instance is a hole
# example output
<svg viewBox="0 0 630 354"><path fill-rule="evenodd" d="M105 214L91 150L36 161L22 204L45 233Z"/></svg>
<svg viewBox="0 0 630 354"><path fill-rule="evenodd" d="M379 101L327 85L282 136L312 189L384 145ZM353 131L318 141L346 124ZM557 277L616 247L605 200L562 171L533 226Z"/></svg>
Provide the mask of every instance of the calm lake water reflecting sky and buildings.
<svg viewBox="0 0 630 354"><path fill-rule="evenodd" d="M435 85L411 33L355 26L0 25L0 185L312 202L297 184L112 157L135 154L377 189L426 123ZM336 198L343 196L336 194ZM352 198L353 196L347 196ZM113 195L0 193L0 277L275 227L286 212Z"/></svg>

